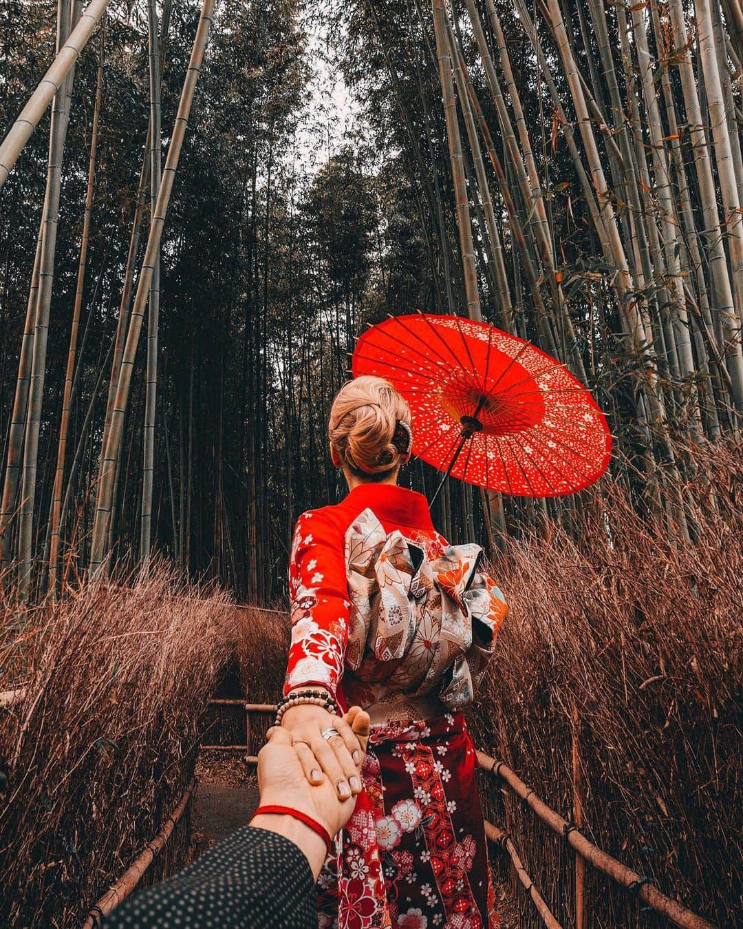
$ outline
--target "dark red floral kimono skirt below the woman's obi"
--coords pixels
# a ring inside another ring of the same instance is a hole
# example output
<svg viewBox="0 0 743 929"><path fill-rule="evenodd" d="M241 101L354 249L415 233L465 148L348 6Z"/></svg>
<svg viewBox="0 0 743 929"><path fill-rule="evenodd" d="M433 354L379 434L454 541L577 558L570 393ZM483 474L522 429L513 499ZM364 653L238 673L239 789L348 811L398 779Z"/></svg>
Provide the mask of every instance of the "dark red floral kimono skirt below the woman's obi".
<svg viewBox="0 0 743 929"><path fill-rule="evenodd" d="M365 792L318 881L321 929L493 929L477 759L462 713L373 726Z"/></svg>

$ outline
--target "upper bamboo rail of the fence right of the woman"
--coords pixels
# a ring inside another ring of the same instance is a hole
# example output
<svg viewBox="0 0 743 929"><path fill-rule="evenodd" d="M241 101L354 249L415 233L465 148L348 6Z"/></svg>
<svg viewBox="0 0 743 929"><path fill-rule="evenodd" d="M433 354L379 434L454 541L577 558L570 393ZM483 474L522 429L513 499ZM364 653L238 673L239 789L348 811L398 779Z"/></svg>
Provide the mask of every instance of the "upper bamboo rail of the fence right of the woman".
<svg viewBox="0 0 743 929"><path fill-rule="evenodd" d="M686 909L670 896L661 894L655 884L649 883L647 877L623 865L621 861L617 861L616 858L612 858L589 842L574 824L570 824L567 819L563 819L555 810L540 800L532 788L528 787L505 762L496 761L484 752L477 752L477 756L482 767L491 771L495 777L502 779L510 790L517 793L524 803L532 808L545 825L558 835L564 836L570 847L596 870L602 871L622 887L636 893L647 903L648 907L652 907L656 912L671 920L674 925L682 926L683 929L714 929L711 922L707 922L690 909Z"/></svg>

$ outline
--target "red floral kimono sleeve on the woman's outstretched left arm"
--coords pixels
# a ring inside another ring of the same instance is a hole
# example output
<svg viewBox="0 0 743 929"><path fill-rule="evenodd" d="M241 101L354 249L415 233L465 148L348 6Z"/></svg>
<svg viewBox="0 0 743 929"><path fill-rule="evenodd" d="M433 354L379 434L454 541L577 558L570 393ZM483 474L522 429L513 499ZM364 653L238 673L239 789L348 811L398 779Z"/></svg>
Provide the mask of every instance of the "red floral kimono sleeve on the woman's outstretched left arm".
<svg viewBox="0 0 743 929"><path fill-rule="evenodd" d="M343 540L321 512L302 514L289 558L291 645L284 693L309 685L335 697L343 674L351 602Z"/></svg>

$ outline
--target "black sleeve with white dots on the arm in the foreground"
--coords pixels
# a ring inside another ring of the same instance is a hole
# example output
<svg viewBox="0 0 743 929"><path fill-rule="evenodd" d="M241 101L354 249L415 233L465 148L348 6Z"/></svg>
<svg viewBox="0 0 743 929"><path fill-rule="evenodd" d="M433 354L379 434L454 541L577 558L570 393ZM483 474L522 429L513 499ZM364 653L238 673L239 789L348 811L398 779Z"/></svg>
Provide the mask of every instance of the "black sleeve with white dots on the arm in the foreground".
<svg viewBox="0 0 743 929"><path fill-rule="evenodd" d="M106 929L317 929L312 871L297 845L243 826L167 881L135 893Z"/></svg>

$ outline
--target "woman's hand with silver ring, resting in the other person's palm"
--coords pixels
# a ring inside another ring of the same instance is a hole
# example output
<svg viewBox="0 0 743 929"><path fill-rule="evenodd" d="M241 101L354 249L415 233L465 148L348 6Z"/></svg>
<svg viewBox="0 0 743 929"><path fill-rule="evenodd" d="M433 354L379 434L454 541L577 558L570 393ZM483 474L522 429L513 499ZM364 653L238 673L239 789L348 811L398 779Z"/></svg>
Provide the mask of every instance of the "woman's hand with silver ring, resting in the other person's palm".
<svg viewBox="0 0 743 929"><path fill-rule="evenodd" d="M348 800L361 792L359 773L365 746L348 719L349 714L342 719L321 706L310 704L291 707L281 720L281 726L291 735L305 778L318 785L326 776L335 787L339 800ZM336 729L339 734L324 739L322 732L328 728Z"/></svg>

